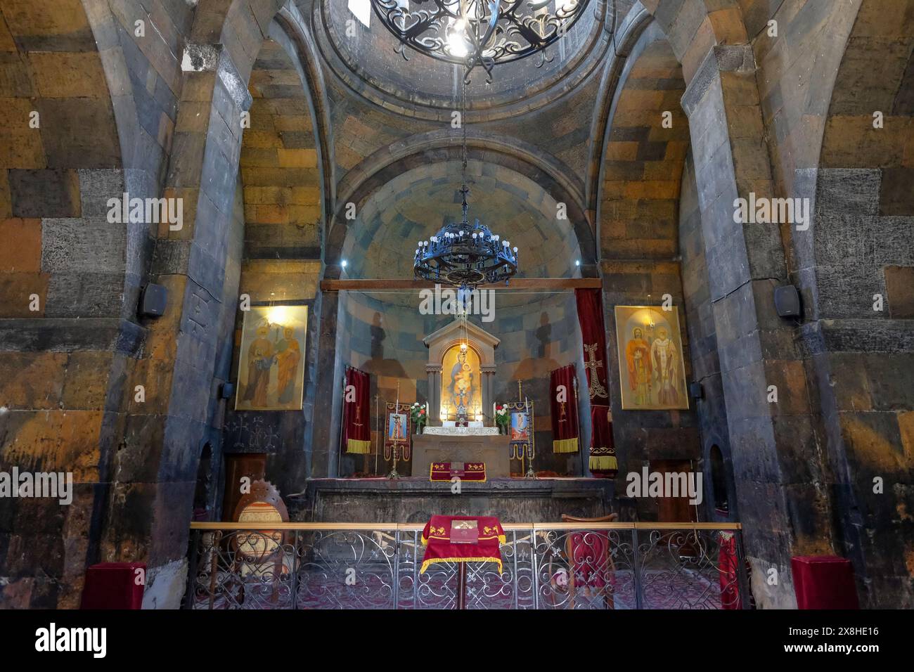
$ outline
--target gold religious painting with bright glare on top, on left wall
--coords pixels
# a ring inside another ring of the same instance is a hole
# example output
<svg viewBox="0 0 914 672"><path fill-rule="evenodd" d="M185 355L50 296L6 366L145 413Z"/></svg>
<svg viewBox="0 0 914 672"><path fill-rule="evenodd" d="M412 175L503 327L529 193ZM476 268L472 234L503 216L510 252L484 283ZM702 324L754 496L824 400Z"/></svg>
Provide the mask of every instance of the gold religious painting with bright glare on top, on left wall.
<svg viewBox="0 0 914 672"><path fill-rule="evenodd" d="M241 326L236 411L301 411L308 306L258 305Z"/></svg>

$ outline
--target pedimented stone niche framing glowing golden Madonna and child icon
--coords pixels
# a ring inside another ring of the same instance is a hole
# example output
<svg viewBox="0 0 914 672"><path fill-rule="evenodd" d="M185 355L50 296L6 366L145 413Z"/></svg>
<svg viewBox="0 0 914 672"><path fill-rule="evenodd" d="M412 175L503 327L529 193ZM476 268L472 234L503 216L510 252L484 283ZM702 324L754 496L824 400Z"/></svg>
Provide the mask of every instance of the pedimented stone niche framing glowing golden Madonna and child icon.
<svg viewBox="0 0 914 672"><path fill-rule="evenodd" d="M495 348L501 342L460 318L426 336L429 348L429 421L441 426L463 410L468 421L494 426Z"/></svg>

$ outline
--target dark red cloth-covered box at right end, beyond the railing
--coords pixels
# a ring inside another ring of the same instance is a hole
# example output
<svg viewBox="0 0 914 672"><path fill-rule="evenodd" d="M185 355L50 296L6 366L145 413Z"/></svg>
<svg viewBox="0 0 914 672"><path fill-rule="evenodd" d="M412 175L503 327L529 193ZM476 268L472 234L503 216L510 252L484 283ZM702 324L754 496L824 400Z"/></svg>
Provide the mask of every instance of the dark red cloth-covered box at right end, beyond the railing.
<svg viewBox="0 0 914 672"><path fill-rule="evenodd" d="M797 608L860 608L850 560L836 555L794 556L791 569Z"/></svg>

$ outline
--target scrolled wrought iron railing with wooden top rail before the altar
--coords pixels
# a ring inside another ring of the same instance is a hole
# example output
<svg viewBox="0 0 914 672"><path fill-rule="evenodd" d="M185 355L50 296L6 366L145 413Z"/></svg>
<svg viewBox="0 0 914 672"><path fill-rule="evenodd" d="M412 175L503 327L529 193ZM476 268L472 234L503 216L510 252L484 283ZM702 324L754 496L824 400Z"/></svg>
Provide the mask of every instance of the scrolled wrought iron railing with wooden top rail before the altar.
<svg viewBox="0 0 914 672"><path fill-rule="evenodd" d="M270 529L264 529L269 526ZM506 524L503 568L469 562L468 609L740 609L739 524ZM188 609L453 609L456 563L420 573L421 527L192 523Z"/></svg>

